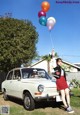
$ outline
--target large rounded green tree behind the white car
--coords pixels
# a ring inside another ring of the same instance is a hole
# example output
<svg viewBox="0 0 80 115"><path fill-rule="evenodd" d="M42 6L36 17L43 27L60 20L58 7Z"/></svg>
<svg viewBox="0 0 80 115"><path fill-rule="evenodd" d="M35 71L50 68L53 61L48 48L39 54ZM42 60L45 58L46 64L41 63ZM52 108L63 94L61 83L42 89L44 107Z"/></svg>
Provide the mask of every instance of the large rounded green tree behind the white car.
<svg viewBox="0 0 80 115"><path fill-rule="evenodd" d="M38 33L29 20L0 18L0 70L27 65L37 55Z"/></svg>

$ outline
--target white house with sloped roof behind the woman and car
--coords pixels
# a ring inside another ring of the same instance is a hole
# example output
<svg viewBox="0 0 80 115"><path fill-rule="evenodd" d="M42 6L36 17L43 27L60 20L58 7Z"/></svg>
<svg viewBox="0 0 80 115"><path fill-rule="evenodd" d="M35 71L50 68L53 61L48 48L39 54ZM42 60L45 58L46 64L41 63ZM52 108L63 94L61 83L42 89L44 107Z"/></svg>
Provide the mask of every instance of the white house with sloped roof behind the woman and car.
<svg viewBox="0 0 80 115"><path fill-rule="evenodd" d="M65 71L67 72L78 72L80 71L80 67L77 65L74 65L72 63L69 63L67 61L62 62L62 66L65 69ZM34 64L32 64L29 67L34 67L34 68L43 68L45 69L48 73L51 73L52 69L56 66L56 58L54 57L53 59L51 59L51 61L42 59Z"/></svg>

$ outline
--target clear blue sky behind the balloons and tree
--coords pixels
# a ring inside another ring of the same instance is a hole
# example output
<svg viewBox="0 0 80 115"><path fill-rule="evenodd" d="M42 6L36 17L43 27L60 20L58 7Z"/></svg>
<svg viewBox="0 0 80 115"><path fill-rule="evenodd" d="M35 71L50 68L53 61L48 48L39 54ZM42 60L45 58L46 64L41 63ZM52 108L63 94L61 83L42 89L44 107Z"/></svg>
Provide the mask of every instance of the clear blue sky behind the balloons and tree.
<svg viewBox="0 0 80 115"><path fill-rule="evenodd" d="M39 23L38 12L44 1L50 4L46 18L56 19L51 32ZM36 48L40 56L54 49L63 60L80 63L80 0L0 0L0 15L8 12L12 18L28 19L36 27L39 34Z"/></svg>

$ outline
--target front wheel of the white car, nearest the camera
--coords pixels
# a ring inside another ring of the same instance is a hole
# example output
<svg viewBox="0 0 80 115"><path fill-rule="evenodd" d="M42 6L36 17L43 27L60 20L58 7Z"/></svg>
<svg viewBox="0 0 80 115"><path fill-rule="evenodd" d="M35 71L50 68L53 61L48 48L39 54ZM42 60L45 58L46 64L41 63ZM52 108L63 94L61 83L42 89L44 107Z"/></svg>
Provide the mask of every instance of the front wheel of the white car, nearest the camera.
<svg viewBox="0 0 80 115"><path fill-rule="evenodd" d="M32 98L31 94L29 92L26 92L24 95L24 108L26 110L34 110L35 108L35 102Z"/></svg>

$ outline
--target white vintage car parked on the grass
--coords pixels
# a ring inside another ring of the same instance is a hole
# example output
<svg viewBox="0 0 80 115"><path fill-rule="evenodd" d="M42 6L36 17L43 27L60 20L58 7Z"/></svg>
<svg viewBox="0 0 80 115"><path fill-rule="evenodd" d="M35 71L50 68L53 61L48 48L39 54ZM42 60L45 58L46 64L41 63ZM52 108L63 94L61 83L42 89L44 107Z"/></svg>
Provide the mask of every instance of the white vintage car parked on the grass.
<svg viewBox="0 0 80 115"><path fill-rule="evenodd" d="M55 81L44 69L14 68L2 82L4 100L9 96L23 100L26 110L35 109L35 101L54 100L59 97Z"/></svg>

